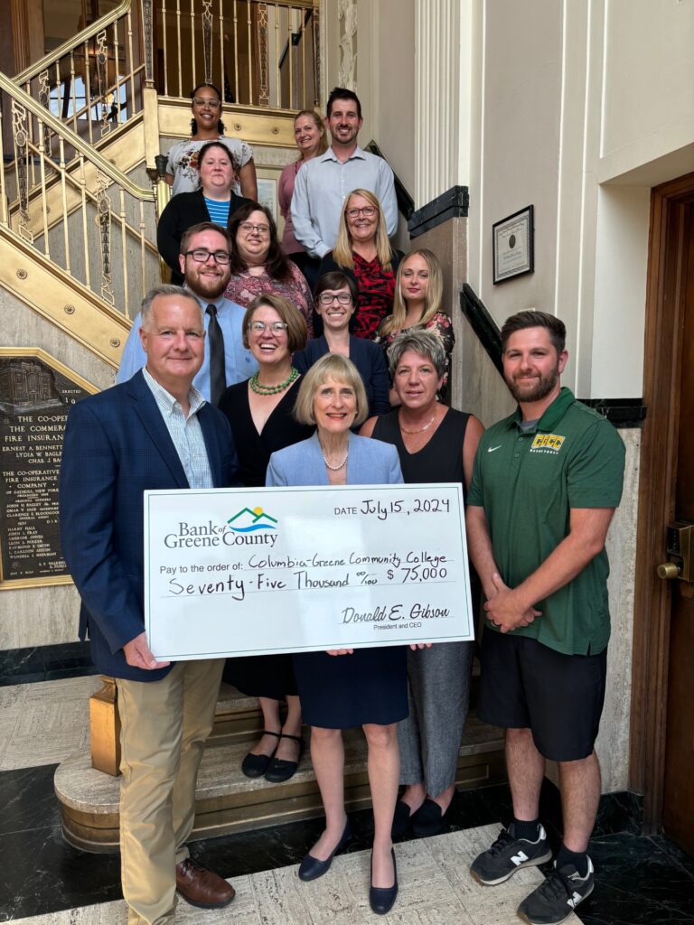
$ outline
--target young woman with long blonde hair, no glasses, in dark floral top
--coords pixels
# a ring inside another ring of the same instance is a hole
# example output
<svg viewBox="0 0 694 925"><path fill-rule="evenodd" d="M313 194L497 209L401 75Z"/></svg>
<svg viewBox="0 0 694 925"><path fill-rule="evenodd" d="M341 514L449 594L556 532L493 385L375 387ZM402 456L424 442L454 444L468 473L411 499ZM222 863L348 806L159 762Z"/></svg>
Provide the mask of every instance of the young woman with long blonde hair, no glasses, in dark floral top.
<svg viewBox="0 0 694 925"><path fill-rule="evenodd" d="M405 328L435 331L443 341L446 351L446 373L443 376L439 401L443 400L448 385L451 354L455 343L451 318L440 311L442 295L443 274L436 254L426 248L408 253L398 268L392 314L382 322L375 338L383 347L388 363L388 348ZM394 408L399 404L400 399L391 388L390 406Z"/></svg>

